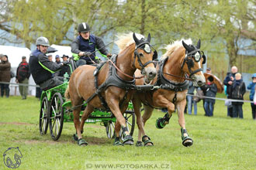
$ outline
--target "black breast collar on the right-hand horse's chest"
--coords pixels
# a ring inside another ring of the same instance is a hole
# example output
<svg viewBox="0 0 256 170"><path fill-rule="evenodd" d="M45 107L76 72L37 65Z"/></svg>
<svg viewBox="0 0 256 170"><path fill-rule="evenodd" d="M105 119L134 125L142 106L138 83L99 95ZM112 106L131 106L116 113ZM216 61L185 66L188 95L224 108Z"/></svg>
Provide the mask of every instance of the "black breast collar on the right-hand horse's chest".
<svg viewBox="0 0 256 170"><path fill-rule="evenodd" d="M185 80L182 83L175 83L171 80L168 80L164 77L163 70L164 64L168 60L168 57L161 60L159 63L159 70L157 71L157 82L154 84L155 86L161 86L164 90L174 90L174 91L183 91L189 88L189 80Z"/></svg>

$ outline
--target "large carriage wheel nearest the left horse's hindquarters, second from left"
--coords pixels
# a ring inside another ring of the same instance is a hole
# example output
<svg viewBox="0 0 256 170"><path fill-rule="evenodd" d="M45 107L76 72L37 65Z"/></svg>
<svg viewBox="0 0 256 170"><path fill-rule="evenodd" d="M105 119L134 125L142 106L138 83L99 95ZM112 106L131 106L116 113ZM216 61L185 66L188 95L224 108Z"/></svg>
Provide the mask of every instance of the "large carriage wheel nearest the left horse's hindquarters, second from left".
<svg viewBox="0 0 256 170"><path fill-rule="evenodd" d="M61 93L54 93L54 97L50 102L49 110L49 127L50 135L54 141L61 137L61 131L64 122L64 108L62 107L63 99Z"/></svg>

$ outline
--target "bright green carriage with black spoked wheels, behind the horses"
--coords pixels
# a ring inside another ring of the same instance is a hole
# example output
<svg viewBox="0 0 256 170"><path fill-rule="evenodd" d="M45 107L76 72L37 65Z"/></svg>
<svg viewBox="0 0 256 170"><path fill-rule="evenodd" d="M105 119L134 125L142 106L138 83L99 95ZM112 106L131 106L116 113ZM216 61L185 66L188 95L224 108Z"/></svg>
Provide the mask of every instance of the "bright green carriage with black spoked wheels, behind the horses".
<svg viewBox="0 0 256 170"><path fill-rule="evenodd" d="M70 64L71 73L74 71L74 61L71 60ZM69 74L71 74L69 73ZM61 137L61 131L63 128L64 121L73 121L73 115L71 110L71 101L66 100L64 97L65 90L68 86L69 74L64 75L64 83L44 90L40 97L40 134L47 134L49 126L50 136L54 141L57 141ZM83 105L81 114L87 104ZM133 135L135 127L135 114L133 111L133 104L129 104L127 110L123 114L126 119L126 124L130 130L130 134ZM105 126L107 138L114 138L115 136L115 124L116 117L110 110L95 109L92 114L85 121L87 124L95 124L99 122Z"/></svg>

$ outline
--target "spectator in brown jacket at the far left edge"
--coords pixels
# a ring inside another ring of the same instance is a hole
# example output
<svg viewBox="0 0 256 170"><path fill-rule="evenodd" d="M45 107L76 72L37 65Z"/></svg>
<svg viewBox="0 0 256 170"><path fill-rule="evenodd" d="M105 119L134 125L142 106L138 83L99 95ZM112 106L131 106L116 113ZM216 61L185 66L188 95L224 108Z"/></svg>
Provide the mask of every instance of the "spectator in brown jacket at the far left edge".
<svg viewBox="0 0 256 170"><path fill-rule="evenodd" d="M5 83L0 83L1 86L1 97L5 96L8 98L10 89L9 83L11 80L11 63L9 63L8 56L3 55L0 63L0 80Z"/></svg>

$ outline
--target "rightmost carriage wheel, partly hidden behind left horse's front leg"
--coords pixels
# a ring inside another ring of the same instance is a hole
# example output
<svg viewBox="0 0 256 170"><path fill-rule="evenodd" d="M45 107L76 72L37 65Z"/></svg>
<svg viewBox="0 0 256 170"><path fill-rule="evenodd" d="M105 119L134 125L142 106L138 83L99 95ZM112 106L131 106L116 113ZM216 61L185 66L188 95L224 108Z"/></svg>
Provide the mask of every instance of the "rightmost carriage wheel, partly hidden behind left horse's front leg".
<svg viewBox="0 0 256 170"><path fill-rule="evenodd" d="M123 117L126 119L126 127L128 128L128 131L130 131L130 135L133 136L133 131L135 128L135 114L133 110L126 110L126 112L123 114ZM123 140L123 130L121 128L119 136Z"/></svg>

